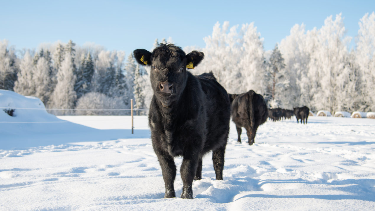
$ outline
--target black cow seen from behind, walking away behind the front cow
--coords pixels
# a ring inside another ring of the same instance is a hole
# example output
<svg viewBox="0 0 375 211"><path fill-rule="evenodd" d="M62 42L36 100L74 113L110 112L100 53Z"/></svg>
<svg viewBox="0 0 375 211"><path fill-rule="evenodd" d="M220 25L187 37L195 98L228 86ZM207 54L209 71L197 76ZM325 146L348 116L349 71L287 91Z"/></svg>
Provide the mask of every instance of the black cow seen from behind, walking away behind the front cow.
<svg viewBox="0 0 375 211"><path fill-rule="evenodd" d="M259 125L267 120L268 111L263 96L253 90L240 95L230 95L232 99L231 115L236 124L238 142L241 142L242 127L246 129L249 145L254 143L255 134Z"/></svg>

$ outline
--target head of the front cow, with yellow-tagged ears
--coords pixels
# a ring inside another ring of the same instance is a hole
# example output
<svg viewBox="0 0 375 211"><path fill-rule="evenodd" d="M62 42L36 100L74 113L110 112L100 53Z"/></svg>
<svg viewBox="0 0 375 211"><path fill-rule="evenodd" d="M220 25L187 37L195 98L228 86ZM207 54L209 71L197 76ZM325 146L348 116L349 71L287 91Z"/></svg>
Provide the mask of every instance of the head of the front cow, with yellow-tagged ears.
<svg viewBox="0 0 375 211"><path fill-rule="evenodd" d="M185 54L181 47L159 44L152 53L144 49L133 51L135 60L151 68L150 80L155 97L164 106L180 98L187 81L187 68L195 68L204 54L192 51Z"/></svg>

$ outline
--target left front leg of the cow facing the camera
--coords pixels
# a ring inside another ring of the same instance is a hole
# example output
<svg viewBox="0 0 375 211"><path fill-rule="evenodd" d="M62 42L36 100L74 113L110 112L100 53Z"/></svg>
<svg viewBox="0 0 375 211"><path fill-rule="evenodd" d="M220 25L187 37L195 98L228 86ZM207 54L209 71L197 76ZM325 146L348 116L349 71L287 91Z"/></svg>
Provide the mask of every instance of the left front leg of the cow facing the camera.
<svg viewBox="0 0 375 211"><path fill-rule="evenodd" d="M165 184L164 198L176 197L173 185L174 179L176 178L176 166L174 164L173 157L167 154L167 152L159 152L156 154L157 158L159 159Z"/></svg>

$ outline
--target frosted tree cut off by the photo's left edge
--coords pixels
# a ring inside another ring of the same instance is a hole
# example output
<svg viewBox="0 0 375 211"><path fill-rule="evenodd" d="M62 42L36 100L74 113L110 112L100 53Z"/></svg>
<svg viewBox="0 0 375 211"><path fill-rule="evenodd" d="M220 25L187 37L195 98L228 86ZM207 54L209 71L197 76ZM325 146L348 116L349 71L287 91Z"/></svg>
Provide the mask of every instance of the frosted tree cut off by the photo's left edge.
<svg viewBox="0 0 375 211"><path fill-rule="evenodd" d="M0 89L13 90L18 73L16 59L14 49L8 48L6 40L0 40Z"/></svg>

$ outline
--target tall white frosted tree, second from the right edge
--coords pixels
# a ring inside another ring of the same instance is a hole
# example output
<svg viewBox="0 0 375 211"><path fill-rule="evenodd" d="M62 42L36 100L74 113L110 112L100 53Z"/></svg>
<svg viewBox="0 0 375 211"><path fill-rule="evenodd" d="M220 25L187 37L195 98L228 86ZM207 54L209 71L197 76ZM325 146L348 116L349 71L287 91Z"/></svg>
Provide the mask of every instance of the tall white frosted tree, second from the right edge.
<svg viewBox="0 0 375 211"><path fill-rule="evenodd" d="M327 17L324 26L316 34L317 48L311 52L310 75L318 75L312 83L318 84L313 91L313 102L317 109L329 110L331 113L340 110L337 97L339 92L338 75L344 71L348 58L347 46L350 37L344 37L345 27L341 14ZM318 79L318 80L316 80Z"/></svg>

